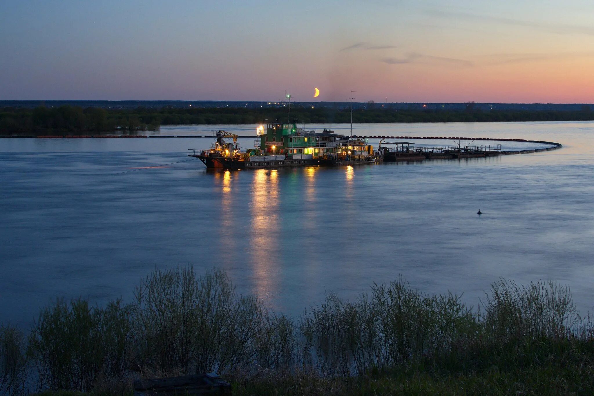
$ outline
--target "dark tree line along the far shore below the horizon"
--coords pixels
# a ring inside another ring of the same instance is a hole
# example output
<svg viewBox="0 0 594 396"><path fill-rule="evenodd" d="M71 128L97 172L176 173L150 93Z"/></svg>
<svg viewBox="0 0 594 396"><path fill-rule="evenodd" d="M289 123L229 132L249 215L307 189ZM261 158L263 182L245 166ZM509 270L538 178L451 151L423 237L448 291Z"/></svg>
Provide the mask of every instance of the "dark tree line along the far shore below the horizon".
<svg viewBox="0 0 594 396"><path fill-rule="evenodd" d="M350 122L350 109L337 107L291 107L291 121L299 123ZM353 122L499 122L499 121L593 121L594 111L583 106L567 110L481 110L469 102L465 110L398 110L369 102L353 112ZM102 109L100 107L39 106L34 109L0 109L0 134L52 134L66 132L146 131L160 125L238 124L286 122L286 107L247 109L232 107L149 109Z"/></svg>

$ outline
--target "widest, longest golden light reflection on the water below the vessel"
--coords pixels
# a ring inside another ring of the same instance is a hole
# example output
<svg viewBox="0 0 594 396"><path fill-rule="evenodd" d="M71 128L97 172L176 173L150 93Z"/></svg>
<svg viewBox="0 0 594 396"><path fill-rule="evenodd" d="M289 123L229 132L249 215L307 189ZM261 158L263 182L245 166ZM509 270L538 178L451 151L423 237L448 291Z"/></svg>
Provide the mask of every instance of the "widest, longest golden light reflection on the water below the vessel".
<svg viewBox="0 0 594 396"><path fill-rule="evenodd" d="M255 292L268 299L278 284L280 244L279 175L277 170L255 170L252 183L252 223L249 228Z"/></svg>

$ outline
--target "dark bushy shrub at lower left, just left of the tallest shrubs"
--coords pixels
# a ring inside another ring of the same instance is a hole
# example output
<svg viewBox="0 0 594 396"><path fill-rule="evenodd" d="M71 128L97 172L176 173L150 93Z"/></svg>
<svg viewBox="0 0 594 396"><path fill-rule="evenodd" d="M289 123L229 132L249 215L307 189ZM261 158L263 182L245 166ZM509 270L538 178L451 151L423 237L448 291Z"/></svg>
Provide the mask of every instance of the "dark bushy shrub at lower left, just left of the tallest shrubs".
<svg viewBox="0 0 594 396"><path fill-rule="evenodd" d="M29 356L41 389L89 392L100 378L128 373L130 306L105 308L82 299L58 299L42 310L29 337Z"/></svg>

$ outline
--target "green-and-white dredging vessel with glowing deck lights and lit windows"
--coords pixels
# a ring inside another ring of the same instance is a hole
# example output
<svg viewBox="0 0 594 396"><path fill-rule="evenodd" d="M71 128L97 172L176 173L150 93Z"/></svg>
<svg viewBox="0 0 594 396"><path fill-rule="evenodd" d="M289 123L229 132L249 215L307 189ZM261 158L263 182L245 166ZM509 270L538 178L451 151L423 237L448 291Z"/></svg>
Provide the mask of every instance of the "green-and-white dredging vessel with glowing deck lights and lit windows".
<svg viewBox="0 0 594 396"><path fill-rule="evenodd" d="M208 150L189 149L207 168L260 169L284 166L343 166L381 163L384 154L374 151L364 138L337 135L324 129L316 132L295 123L267 123L256 128L254 148L241 151L238 136L213 132L215 141ZM232 140L232 141L229 141Z"/></svg>

